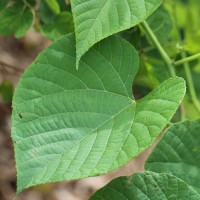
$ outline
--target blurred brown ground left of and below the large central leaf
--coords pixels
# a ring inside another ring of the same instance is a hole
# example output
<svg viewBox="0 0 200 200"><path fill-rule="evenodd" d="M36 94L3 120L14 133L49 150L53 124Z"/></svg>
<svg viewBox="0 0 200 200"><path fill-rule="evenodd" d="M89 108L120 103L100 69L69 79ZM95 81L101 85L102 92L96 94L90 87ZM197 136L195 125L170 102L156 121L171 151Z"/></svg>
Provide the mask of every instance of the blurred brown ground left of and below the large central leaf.
<svg viewBox="0 0 200 200"><path fill-rule="evenodd" d="M24 69L51 42L30 30L16 40L13 37L0 37L0 83L10 80L16 86ZM11 141L11 104L0 100L0 200L12 200L16 191L16 171L13 144ZM119 170L107 175L77 181L37 186L22 192L17 200L86 200L97 189L112 179L131 175L143 170L144 162L150 152L148 149L139 157Z"/></svg>

